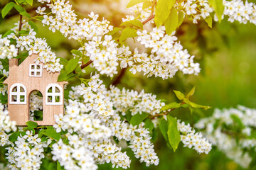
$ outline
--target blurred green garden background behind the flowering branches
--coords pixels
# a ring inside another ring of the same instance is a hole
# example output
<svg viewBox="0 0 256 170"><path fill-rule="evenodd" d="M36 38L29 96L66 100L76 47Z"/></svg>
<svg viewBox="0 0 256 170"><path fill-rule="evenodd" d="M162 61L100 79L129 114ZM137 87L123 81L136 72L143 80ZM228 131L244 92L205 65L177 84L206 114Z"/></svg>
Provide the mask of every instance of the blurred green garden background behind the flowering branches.
<svg viewBox="0 0 256 170"><path fill-rule="evenodd" d="M3 8L7 2L7 0L1 0L0 8ZM121 0L77 0L72 3L79 17L87 16L91 8L95 13L100 13L102 17L107 18L114 26L119 26L121 18L127 12L122 8L114 8L118 4L124 6L127 3ZM31 7L28 6L28 8ZM33 15L33 9L31 9L31 15ZM11 15L5 20L1 18L0 34L14 27L17 21L16 11L11 11ZM46 38L58 57L70 58L70 50L78 48L76 43L67 40L60 33L52 33L40 22L36 23L39 28L38 37ZM174 78L163 81L155 77L146 78L142 74L133 75L126 70L117 86L137 91L144 89L166 102L177 100L173 90L186 94L196 86L196 92L191 97L191 101L212 106L212 108L208 111L195 110L193 114L186 109L176 110L173 113L177 118L192 125L200 118L211 115L214 108L230 108L238 105L256 108L255 30L256 26L253 24L229 23L226 18L221 23L215 23L213 29L208 28L203 21L197 25L191 21L185 21L178 28L176 35L183 47L188 49L191 55L196 55L196 61L201 63L201 73L198 76L184 76L178 73ZM91 70L93 69L88 69L87 74L90 74ZM107 85L112 81L106 77L102 79L105 79ZM174 153L166 147L160 133L154 144L160 159L159 166L146 167L144 163L140 164L127 149L132 158L131 169L242 169L215 147L209 154L198 154L180 144ZM111 167L110 164L104 164L100 165L99 169L111 169Z"/></svg>

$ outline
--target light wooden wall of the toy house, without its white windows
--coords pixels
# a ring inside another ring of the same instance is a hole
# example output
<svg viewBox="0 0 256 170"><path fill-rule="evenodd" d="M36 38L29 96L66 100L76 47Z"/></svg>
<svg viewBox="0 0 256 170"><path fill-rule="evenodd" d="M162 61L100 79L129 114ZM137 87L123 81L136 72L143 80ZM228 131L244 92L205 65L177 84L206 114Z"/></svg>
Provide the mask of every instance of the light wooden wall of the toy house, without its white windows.
<svg viewBox="0 0 256 170"><path fill-rule="evenodd" d="M54 125L54 115L64 113L64 104L62 105L46 105L46 86L48 84L58 84L63 88L66 81L57 82L60 73L49 73L43 69L42 77L29 77L29 64L34 64L34 60L38 55L31 55L26 58L20 65L16 59L9 61L9 77L4 81L8 85L8 110L11 120L16 121L16 125L26 125L29 116L29 96L32 91L38 90L43 94L43 120L35 121L38 125ZM9 91L12 84L21 83L26 86L26 104L10 104Z"/></svg>

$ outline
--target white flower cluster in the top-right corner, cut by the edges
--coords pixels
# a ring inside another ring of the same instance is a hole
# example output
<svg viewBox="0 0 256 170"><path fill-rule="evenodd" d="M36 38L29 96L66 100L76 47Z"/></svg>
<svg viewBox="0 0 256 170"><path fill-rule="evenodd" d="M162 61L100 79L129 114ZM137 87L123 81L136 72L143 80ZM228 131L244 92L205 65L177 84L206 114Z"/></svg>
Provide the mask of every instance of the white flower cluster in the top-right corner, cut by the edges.
<svg viewBox="0 0 256 170"><path fill-rule="evenodd" d="M224 15L228 16L228 21L239 23L256 24L256 5L245 1L245 4L241 0L223 1L225 6Z"/></svg>

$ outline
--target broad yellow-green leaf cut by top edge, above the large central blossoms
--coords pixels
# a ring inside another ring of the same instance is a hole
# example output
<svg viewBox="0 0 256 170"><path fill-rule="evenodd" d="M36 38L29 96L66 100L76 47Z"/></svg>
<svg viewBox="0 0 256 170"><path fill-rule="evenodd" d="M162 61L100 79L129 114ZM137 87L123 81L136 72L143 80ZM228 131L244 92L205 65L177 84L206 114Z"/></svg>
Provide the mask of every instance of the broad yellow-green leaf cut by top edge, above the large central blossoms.
<svg viewBox="0 0 256 170"><path fill-rule="evenodd" d="M171 8L174 6L176 0L159 0L156 4L156 16L154 21L156 26L161 26L166 19L168 18L169 14L171 13Z"/></svg>

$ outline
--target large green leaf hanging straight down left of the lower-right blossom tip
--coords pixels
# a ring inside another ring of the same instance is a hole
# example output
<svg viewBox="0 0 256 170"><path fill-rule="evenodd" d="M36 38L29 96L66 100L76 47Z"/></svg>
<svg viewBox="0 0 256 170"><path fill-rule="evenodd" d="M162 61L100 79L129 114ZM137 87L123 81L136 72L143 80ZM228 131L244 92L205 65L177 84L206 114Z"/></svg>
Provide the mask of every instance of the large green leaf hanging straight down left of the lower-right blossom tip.
<svg viewBox="0 0 256 170"><path fill-rule="evenodd" d="M171 147L174 149L174 152L178 148L179 142L181 142L181 136L180 132L178 131L178 125L177 125L177 120L176 118L171 117L171 115L167 115L167 120L168 120L168 139L169 139L169 144Z"/></svg>

